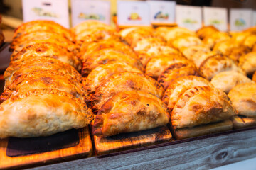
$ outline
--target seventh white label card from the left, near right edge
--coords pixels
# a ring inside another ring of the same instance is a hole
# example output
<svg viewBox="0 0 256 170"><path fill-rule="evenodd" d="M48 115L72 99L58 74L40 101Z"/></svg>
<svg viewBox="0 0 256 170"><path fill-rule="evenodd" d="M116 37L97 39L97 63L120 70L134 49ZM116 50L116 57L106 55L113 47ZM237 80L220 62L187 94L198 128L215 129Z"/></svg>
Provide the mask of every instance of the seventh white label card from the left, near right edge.
<svg viewBox="0 0 256 170"><path fill-rule="evenodd" d="M230 30L244 30L251 26L252 10L230 9Z"/></svg>

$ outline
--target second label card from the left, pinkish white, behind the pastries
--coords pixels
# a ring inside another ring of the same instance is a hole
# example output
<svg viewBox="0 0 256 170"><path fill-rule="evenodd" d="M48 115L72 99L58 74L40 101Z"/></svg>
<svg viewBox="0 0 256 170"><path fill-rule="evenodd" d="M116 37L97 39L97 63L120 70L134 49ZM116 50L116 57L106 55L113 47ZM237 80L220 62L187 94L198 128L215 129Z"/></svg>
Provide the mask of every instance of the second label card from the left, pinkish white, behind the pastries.
<svg viewBox="0 0 256 170"><path fill-rule="evenodd" d="M110 25L110 1L71 0L72 26L85 20Z"/></svg>

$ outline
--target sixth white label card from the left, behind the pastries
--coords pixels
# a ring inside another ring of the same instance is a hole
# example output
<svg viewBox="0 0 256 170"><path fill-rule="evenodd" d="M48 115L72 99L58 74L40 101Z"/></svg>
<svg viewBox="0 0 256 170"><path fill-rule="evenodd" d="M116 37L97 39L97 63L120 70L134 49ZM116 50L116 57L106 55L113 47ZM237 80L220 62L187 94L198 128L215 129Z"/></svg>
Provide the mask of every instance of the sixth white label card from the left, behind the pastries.
<svg viewBox="0 0 256 170"><path fill-rule="evenodd" d="M205 26L215 26L221 31L228 30L228 9L203 7L203 22Z"/></svg>

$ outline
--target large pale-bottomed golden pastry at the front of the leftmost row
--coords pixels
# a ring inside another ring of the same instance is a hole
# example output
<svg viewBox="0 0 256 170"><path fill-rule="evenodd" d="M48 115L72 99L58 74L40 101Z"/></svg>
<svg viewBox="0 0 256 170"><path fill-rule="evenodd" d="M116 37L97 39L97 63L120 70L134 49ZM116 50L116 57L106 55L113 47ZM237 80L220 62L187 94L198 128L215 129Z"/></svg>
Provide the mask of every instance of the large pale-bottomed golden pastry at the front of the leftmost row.
<svg viewBox="0 0 256 170"><path fill-rule="evenodd" d="M53 135L83 128L93 116L79 98L56 89L18 93L0 105L0 138Z"/></svg>

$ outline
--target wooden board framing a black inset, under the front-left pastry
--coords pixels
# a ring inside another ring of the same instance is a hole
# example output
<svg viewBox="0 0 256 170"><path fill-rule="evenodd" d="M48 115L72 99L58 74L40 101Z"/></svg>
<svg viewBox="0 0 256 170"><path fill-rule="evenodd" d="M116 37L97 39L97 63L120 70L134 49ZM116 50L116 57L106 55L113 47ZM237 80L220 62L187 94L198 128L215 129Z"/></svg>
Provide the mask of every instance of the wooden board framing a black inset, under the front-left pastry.
<svg viewBox="0 0 256 170"><path fill-rule="evenodd" d="M88 127L78 130L78 135L79 143L75 147L19 157L6 156L8 139L0 140L0 169L28 168L92 156L92 142Z"/></svg>

